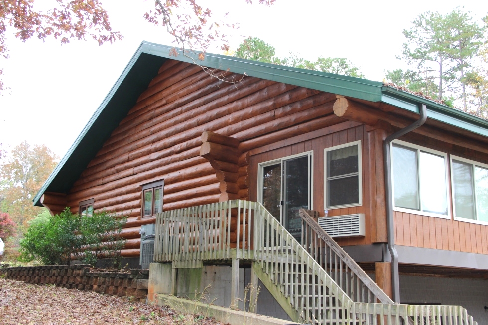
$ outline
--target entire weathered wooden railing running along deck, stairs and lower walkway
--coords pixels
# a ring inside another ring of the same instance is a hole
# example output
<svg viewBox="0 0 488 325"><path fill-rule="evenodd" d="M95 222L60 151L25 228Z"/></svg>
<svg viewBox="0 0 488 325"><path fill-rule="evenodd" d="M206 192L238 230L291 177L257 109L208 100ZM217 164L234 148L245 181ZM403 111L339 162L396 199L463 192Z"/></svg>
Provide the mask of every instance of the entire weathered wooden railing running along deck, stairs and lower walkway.
<svg viewBox="0 0 488 325"><path fill-rule="evenodd" d="M368 302L388 300L369 277L359 274L357 264L332 238L303 212L302 217L300 244L257 202L235 200L165 211L156 218L154 261L188 267L204 260L251 259L301 320L316 325L477 325L461 306Z"/></svg>

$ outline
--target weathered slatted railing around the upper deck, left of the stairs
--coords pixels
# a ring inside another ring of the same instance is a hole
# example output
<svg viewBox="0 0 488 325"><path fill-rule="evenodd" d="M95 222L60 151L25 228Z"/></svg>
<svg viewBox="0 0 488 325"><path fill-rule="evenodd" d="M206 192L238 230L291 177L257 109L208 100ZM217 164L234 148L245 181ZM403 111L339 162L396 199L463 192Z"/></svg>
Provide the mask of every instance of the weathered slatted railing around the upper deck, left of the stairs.
<svg viewBox="0 0 488 325"><path fill-rule="evenodd" d="M253 204L235 200L159 213L154 261L191 265L204 260L250 258Z"/></svg>

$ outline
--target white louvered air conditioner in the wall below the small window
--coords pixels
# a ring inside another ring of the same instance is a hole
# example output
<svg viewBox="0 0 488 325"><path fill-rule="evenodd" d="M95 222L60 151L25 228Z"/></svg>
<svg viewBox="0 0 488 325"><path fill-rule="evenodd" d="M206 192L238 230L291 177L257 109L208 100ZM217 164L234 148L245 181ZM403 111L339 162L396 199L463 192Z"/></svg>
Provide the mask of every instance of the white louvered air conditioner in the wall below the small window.
<svg viewBox="0 0 488 325"><path fill-rule="evenodd" d="M365 214L318 218L319 225L331 237L359 237L365 235Z"/></svg>

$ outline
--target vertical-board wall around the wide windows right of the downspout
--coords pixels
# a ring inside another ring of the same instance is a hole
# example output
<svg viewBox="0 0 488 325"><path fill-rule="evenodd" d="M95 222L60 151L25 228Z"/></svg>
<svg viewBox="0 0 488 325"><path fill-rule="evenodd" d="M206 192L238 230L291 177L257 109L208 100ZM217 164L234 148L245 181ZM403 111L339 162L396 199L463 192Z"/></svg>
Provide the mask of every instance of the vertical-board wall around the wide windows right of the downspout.
<svg viewBox="0 0 488 325"><path fill-rule="evenodd" d="M435 138L429 138L419 134L409 134L400 139L426 148L442 151L449 155L488 164L488 154L486 152L475 151L462 145L442 142ZM449 141L449 139L446 140ZM396 244L488 254L488 226L456 221L452 218L451 179L449 179L449 195L451 196L451 206L449 207L451 219L395 211L393 215Z"/></svg>

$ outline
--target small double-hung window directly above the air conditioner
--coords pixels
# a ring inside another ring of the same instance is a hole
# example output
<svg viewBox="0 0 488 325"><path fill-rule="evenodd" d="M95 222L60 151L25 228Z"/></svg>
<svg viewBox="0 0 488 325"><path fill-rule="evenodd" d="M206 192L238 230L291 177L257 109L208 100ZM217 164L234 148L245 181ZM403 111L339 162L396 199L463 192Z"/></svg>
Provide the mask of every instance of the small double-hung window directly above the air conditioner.
<svg viewBox="0 0 488 325"><path fill-rule="evenodd" d="M324 150L325 206L344 208L362 205L361 141Z"/></svg>

